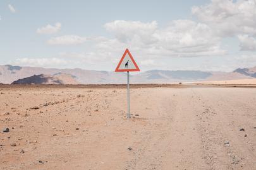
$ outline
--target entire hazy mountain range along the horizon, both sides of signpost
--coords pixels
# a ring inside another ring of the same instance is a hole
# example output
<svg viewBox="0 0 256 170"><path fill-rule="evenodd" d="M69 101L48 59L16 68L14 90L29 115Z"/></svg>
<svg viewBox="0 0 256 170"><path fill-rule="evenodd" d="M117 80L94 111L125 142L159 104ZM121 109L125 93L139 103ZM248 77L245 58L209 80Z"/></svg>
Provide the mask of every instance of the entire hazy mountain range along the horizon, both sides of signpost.
<svg viewBox="0 0 256 170"><path fill-rule="evenodd" d="M233 72L151 70L131 74L131 83L174 83L252 79L256 67L238 68ZM46 69L0 65L3 84L125 84L126 72L89 71L84 69Z"/></svg>

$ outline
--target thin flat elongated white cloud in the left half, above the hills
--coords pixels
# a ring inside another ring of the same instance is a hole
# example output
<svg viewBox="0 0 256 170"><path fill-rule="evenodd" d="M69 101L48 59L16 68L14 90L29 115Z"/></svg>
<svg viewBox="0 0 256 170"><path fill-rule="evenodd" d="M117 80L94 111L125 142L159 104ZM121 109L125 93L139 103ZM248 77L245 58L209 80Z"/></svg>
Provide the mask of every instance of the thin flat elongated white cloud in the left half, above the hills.
<svg viewBox="0 0 256 170"><path fill-rule="evenodd" d="M86 40L87 38L77 35L63 35L61 37L53 37L47 43L49 45L78 45L84 43Z"/></svg>

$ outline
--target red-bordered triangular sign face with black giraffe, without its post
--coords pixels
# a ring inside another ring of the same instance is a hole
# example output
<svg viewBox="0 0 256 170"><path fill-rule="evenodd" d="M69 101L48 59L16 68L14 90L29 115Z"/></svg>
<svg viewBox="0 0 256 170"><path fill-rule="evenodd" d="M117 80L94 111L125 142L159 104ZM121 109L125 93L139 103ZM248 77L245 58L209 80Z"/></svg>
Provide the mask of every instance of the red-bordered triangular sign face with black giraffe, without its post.
<svg viewBox="0 0 256 170"><path fill-rule="evenodd" d="M125 50L123 57L119 61L118 67L115 72L126 72L126 71L140 71L136 64L133 56L128 49Z"/></svg>

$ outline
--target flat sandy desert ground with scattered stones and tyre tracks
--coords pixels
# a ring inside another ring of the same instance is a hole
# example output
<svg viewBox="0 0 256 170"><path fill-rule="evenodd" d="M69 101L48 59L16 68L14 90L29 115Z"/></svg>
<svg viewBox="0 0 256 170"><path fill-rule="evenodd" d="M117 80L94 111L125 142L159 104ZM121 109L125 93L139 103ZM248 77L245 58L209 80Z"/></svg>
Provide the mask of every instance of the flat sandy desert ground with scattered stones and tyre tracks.
<svg viewBox="0 0 256 170"><path fill-rule="evenodd" d="M0 169L256 169L256 88L1 86ZM9 132L3 132L9 128Z"/></svg>

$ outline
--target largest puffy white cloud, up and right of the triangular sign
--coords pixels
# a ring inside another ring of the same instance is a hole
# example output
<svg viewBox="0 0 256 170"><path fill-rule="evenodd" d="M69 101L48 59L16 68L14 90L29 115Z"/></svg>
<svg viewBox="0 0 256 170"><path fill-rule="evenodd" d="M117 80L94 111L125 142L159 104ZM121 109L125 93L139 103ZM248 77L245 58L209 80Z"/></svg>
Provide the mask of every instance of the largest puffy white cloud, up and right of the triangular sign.
<svg viewBox="0 0 256 170"><path fill-rule="evenodd" d="M190 20L176 20L164 30L154 35L159 40L159 48L178 57L223 55L220 38L203 23Z"/></svg>

